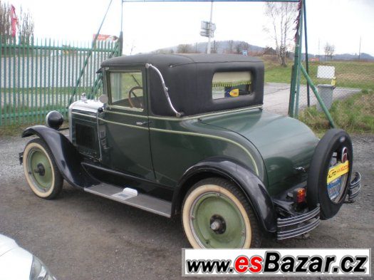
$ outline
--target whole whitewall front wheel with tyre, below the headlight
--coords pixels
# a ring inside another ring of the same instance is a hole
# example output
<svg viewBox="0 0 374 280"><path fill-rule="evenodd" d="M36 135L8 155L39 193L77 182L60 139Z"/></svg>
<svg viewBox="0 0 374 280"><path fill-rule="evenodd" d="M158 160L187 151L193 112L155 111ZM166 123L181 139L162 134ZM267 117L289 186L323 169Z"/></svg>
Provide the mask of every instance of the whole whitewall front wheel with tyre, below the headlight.
<svg viewBox="0 0 374 280"><path fill-rule="evenodd" d="M63 177L46 142L40 138L28 142L23 164L26 180L35 195L52 199L61 192Z"/></svg>

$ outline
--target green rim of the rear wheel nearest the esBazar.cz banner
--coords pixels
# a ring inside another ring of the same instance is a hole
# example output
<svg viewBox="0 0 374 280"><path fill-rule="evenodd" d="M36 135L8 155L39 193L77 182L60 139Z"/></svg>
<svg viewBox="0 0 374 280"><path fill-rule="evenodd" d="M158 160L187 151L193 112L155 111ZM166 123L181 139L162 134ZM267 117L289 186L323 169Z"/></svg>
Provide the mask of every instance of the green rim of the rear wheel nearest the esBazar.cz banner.
<svg viewBox="0 0 374 280"><path fill-rule="evenodd" d="M212 229L218 220L220 232ZM190 226L195 239L204 248L241 248L246 239L244 217L229 197L217 192L200 195L190 210Z"/></svg>

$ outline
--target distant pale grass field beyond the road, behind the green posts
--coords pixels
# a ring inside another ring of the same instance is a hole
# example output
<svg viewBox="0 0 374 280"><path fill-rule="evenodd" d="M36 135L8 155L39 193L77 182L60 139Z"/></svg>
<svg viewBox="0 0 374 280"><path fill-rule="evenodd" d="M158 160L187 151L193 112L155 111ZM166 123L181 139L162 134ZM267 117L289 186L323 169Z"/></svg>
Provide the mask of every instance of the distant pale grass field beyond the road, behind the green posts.
<svg viewBox="0 0 374 280"><path fill-rule="evenodd" d="M279 66L274 58L262 58L265 63L266 83L290 83L293 61L287 61L287 66ZM318 83L330 83L326 79L317 77L318 66L334 66L336 73L336 86L340 88L360 88L374 90L374 62L369 61L319 61L309 63L309 75L315 85ZM305 65L304 65L305 66ZM305 78L301 83L306 84Z"/></svg>

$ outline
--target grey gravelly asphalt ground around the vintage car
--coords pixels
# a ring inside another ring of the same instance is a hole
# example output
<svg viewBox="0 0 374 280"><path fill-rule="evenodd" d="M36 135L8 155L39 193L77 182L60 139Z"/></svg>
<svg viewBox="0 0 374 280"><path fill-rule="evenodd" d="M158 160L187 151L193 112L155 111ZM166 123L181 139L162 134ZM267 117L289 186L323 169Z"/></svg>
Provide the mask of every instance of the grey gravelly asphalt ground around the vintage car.
<svg viewBox="0 0 374 280"><path fill-rule="evenodd" d="M36 197L18 160L26 141L0 136L1 234L36 254L58 279L182 278L181 249L189 245L179 218L160 217L68 184L58 199ZM262 247L373 248L374 135L353 136L353 145L354 170L363 176L358 201L344 204L306 239L265 239Z"/></svg>

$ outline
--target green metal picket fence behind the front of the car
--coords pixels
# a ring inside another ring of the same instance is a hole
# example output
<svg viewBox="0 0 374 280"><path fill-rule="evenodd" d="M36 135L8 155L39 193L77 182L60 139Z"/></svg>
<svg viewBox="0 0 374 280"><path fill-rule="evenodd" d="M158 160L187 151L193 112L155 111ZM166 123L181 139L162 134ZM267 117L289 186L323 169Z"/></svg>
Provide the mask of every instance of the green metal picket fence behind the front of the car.
<svg viewBox="0 0 374 280"><path fill-rule="evenodd" d="M118 54L117 42L98 41L94 48L47 39L18 42L0 36L0 125L43 123L49 110L66 115L69 101L81 93L100 93L96 71Z"/></svg>

